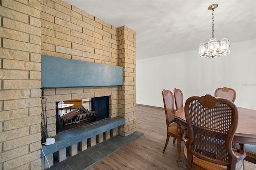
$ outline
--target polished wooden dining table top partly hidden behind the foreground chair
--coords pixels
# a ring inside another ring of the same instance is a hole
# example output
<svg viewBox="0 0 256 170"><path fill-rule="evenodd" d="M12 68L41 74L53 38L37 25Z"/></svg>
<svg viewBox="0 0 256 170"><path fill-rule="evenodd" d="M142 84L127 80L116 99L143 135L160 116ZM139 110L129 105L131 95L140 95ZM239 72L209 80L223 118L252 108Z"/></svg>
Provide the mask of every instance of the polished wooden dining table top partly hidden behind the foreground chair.
<svg viewBox="0 0 256 170"><path fill-rule="evenodd" d="M237 107L237 109L239 120L233 142L256 144L256 111L243 107ZM184 107L179 109L174 117L181 121L181 125L186 126Z"/></svg>

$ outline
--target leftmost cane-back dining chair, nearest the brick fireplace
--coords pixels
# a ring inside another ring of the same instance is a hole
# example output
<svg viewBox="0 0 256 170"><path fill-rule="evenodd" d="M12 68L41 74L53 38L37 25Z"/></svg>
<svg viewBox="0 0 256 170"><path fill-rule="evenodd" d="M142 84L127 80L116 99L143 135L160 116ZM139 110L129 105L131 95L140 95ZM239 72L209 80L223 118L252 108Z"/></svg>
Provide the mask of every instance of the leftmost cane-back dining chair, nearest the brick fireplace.
<svg viewBox="0 0 256 170"><path fill-rule="evenodd" d="M162 91L163 95L163 101L164 101L164 110L165 110L165 119L166 119L166 126L167 126L167 137L166 137L166 142L164 145L164 150L163 153L166 149L166 146L169 142L170 136L173 137L173 144L175 143L175 140L177 138L177 133L176 133L176 128L177 128L177 123L174 120L174 95L170 90L163 90ZM184 128L182 127L182 132L184 132Z"/></svg>

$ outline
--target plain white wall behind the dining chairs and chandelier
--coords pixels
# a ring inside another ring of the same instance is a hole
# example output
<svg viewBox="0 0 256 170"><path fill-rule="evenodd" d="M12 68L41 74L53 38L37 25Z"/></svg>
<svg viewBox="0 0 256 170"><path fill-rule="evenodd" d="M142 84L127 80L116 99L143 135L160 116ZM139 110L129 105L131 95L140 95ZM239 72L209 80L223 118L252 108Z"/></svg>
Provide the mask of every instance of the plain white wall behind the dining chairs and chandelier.
<svg viewBox="0 0 256 170"><path fill-rule="evenodd" d="M230 54L198 58L198 51L136 61L137 104L164 107L162 90L181 89L186 99L215 89L236 90L238 107L256 109L256 40L230 44Z"/></svg>

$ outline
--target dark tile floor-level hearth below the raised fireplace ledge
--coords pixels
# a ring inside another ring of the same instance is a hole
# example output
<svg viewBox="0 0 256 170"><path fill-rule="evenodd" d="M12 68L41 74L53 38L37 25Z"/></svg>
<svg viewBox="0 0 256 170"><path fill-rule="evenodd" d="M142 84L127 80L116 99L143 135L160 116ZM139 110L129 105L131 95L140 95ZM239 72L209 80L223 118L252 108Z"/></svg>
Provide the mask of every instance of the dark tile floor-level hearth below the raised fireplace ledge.
<svg viewBox="0 0 256 170"><path fill-rule="evenodd" d="M126 144L129 144L142 134L142 132L136 131L126 137L117 135L101 143L97 143L93 147L88 146L88 149L78 151L78 154L75 156L67 154L67 159L58 163L54 162L54 165L51 166L51 170L86 170ZM56 154L54 154L54 157L56 157Z"/></svg>

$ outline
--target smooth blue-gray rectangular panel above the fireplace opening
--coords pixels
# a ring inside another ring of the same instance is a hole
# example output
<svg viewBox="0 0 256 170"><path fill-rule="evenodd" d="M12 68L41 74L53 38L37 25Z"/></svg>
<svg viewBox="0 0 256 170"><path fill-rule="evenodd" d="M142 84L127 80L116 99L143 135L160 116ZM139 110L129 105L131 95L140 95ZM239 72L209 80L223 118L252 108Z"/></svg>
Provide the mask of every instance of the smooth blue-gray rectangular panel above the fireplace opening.
<svg viewBox="0 0 256 170"><path fill-rule="evenodd" d="M42 87L123 85L123 67L42 55Z"/></svg>

